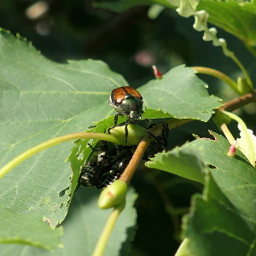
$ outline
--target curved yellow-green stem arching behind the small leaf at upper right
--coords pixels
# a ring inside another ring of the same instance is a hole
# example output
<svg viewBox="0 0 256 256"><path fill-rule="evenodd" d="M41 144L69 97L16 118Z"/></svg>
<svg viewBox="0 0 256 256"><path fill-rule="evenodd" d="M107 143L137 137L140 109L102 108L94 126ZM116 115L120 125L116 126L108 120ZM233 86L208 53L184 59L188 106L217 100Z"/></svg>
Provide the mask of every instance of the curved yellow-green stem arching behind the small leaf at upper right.
<svg viewBox="0 0 256 256"><path fill-rule="evenodd" d="M240 92L237 88L237 84L233 79L230 79L226 74L219 72L216 69L210 68L210 67L192 67L195 69L196 73L202 73L202 74L208 74L212 77L215 77L217 79L220 79L224 81L225 84L228 84L231 89L235 90L238 95L240 95Z"/></svg>

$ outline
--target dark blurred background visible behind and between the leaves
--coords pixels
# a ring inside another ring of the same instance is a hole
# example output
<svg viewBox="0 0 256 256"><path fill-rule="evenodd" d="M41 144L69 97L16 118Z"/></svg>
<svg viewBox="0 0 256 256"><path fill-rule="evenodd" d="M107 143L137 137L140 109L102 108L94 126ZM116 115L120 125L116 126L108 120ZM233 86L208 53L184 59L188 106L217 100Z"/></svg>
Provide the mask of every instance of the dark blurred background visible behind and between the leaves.
<svg viewBox="0 0 256 256"><path fill-rule="evenodd" d="M0 26L13 33L19 32L50 60L100 59L136 88L154 79L152 65L162 73L179 64L216 68L234 79L239 73L220 48L202 41L202 33L192 28L194 18L184 19L174 10L166 9L150 20L145 6L116 14L94 8L88 0L51 0L39 8L45 10L44 14L33 18L27 14L33 3L36 1L2 0ZM230 49L249 71L255 70L255 61L241 42L220 29L218 35L227 39ZM254 80L255 75L254 72ZM201 78L209 84L211 94L224 100L236 97L218 80ZM254 131L255 112L255 106L239 112ZM195 122L172 131L170 148L192 139L191 133L207 136L208 129L220 132L212 122ZM201 187L181 177L141 169L132 182L139 198L136 204L138 230L131 255L173 255L180 242L181 216L189 207L190 196L201 191ZM164 187L163 181L170 185Z"/></svg>

